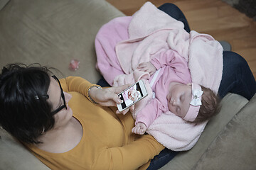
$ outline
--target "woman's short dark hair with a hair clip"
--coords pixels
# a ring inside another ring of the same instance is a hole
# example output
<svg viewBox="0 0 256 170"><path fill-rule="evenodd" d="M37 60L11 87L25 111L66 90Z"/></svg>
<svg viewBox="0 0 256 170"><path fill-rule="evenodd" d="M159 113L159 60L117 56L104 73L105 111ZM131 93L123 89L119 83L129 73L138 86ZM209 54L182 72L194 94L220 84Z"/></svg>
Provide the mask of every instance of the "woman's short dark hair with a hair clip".
<svg viewBox="0 0 256 170"><path fill-rule="evenodd" d="M0 75L0 125L17 140L40 143L55 123L46 100L50 71L40 64L9 64Z"/></svg>

